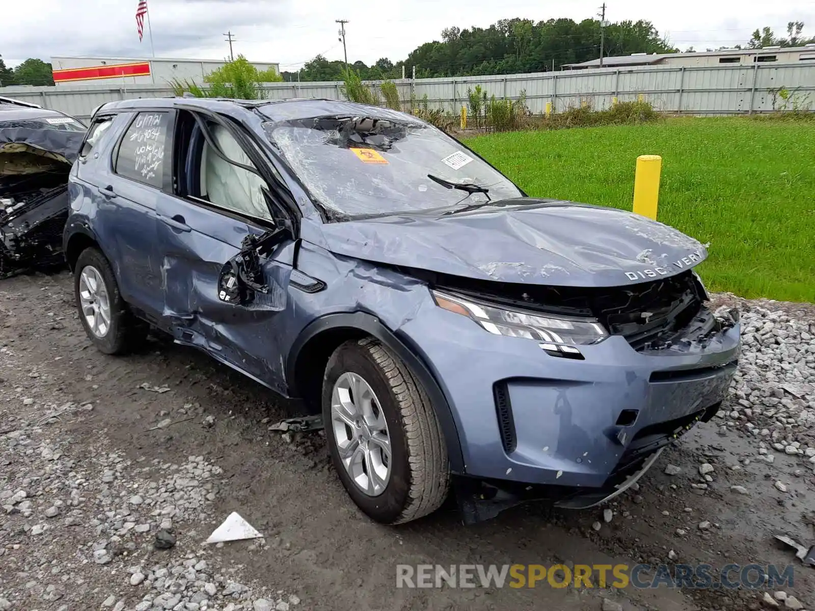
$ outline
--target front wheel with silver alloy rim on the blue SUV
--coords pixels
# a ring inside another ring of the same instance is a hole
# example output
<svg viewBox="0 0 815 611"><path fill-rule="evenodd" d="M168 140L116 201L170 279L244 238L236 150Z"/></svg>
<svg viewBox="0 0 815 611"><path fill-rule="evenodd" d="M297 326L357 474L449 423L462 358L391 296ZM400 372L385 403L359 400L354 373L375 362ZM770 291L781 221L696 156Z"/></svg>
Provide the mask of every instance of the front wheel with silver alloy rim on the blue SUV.
<svg viewBox="0 0 815 611"><path fill-rule="evenodd" d="M323 420L334 468L351 499L382 524L434 512L447 497L447 446L425 389L373 338L328 360Z"/></svg>

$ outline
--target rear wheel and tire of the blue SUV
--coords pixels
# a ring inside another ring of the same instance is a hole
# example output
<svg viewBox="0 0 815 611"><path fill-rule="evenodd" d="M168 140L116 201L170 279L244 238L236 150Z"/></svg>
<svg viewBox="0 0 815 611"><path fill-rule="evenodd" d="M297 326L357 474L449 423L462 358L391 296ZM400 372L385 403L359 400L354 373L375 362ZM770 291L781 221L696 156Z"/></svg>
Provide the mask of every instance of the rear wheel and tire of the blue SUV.
<svg viewBox="0 0 815 611"><path fill-rule="evenodd" d="M104 254L97 248L86 248L73 269L74 297L88 339L104 354L126 354L139 347L149 325L137 319L121 298Z"/></svg>

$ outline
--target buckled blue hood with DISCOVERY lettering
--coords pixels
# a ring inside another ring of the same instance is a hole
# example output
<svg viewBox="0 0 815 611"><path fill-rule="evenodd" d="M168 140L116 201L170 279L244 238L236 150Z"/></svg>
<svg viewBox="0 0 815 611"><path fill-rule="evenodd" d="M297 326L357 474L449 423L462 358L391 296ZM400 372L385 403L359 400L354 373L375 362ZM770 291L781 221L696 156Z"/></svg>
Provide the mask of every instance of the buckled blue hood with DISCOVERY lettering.
<svg viewBox="0 0 815 611"><path fill-rule="evenodd" d="M624 210L518 198L469 212L322 226L333 253L473 279L606 287L675 275L707 257L697 240Z"/></svg>

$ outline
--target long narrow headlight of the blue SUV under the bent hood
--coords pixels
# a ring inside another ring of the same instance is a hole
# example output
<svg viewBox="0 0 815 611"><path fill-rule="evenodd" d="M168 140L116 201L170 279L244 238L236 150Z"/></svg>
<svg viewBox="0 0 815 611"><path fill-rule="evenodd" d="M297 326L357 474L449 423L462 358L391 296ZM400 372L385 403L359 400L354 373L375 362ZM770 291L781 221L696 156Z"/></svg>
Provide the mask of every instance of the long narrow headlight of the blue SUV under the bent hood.
<svg viewBox="0 0 815 611"><path fill-rule="evenodd" d="M433 290L436 305L444 310L473 319L488 332L510 337L553 344L596 344L608 336L596 319L569 316L542 316L522 310L506 310L499 306L475 302L448 292Z"/></svg>

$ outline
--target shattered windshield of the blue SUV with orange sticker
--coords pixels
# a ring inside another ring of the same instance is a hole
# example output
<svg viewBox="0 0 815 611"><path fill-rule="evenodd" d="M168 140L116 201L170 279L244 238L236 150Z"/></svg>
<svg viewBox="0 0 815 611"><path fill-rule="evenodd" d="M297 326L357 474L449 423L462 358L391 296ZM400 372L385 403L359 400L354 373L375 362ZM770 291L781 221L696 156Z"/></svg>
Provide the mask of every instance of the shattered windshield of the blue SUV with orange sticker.
<svg viewBox="0 0 815 611"><path fill-rule="evenodd" d="M311 196L339 218L522 196L485 161L421 123L331 116L265 127Z"/></svg>

